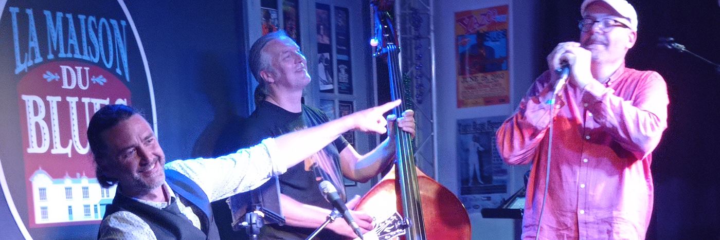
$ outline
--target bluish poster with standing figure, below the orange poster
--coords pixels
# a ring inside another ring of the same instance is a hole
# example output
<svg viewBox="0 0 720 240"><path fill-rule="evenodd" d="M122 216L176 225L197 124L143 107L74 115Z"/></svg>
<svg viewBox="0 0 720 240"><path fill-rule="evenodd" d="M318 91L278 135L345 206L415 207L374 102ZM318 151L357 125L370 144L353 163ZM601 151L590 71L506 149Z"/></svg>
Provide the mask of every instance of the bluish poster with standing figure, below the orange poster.
<svg viewBox="0 0 720 240"><path fill-rule="evenodd" d="M495 147L495 131L505 116L457 120L457 176L468 213L497 208L508 193L509 166Z"/></svg>

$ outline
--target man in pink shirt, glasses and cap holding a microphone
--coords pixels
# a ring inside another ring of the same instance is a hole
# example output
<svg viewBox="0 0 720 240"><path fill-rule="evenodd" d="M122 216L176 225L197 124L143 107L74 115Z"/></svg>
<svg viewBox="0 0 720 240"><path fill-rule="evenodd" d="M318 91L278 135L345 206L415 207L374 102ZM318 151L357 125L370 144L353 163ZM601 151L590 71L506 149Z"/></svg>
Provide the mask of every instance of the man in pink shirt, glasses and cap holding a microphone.
<svg viewBox="0 0 720 240"><path fill-rule="evenodd" d="M550 69L497 132L505 162L533 165L522 238L645 239L651 153L667 128L665 80L625 67L638 24L627 1L585 0L580 13L580 42L555 47ZM570 77L552 102L563 64Z"/></svg>

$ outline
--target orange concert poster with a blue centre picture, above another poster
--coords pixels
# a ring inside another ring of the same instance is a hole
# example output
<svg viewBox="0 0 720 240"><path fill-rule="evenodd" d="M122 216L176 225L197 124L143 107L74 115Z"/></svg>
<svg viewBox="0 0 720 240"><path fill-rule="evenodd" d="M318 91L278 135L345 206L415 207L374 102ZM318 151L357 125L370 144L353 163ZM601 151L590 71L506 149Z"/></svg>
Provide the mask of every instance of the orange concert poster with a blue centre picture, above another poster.
<svg viewBox="0 0 720 240"><path fill-rule="evenodd" d="M508 5L455 13L457 108L510 103Z"/></svg>

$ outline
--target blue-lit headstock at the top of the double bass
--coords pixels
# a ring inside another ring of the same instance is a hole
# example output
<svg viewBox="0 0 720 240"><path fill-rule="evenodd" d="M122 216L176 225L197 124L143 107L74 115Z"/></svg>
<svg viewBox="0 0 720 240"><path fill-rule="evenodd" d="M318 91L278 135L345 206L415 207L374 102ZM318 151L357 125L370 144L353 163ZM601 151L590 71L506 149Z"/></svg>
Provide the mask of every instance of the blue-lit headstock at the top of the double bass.
<svg viewBox="0 0 720 240"><path fill-rule="evenodd" d="M395 0L371 0L370 6L375 13L375 34L370 40L370 45L376 47L373 56L377 57L387 53L388 45L397 43L397 35L390 16L390 12L395 7Z"/></svg>

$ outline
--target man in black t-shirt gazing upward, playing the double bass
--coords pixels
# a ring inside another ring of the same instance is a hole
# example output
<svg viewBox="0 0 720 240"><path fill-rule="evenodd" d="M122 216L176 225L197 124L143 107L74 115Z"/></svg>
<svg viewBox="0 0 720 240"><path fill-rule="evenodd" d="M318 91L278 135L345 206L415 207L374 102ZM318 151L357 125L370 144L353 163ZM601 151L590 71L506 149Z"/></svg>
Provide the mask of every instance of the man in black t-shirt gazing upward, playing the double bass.
<svg viewBox="0 0 720 240"><path fill-rule="evenodd" d="M297 43L287 34L273 32L258 39L251 47L248 63L259 83L255 91L256 110L247 119L243 131L235 135L236 139L225 142L230 146L223 149L251 146L267 137L329 121L323 111L301 103L302 90L310 83L307 60ZM389 124L395 122L403 131L415 134L413 111L405 111L397 119L388 116L387 120ZM259 238L307 238L323 224L333 209L323 198L318 184L322 180L330 181L338 189L341 198L346 199L342 177L364 183L377 175L391 164L395 156L394 137L395 134L390 132L378 147L366 154L359 154L341 136L304 162L290 167L284 175L279 176L281 206L286 224L264 226ZM348 208L352 208L356 202L351 200ZM351 211L351 214L363 232L372 230L371 216L358 211ZM345 221L334 221L326 229L330 231L320 232L316 239L356 237Z"/></svg>

